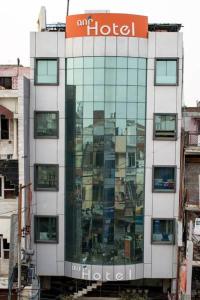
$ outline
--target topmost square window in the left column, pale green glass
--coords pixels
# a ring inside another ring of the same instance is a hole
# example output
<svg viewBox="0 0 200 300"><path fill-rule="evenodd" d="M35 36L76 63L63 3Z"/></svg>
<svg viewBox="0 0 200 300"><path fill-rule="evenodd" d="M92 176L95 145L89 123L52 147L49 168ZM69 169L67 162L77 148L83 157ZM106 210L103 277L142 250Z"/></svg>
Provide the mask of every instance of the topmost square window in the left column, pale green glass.
<svg viewBox="0 0 200 300"><path fill-rule="evenodd" d="M35 84L58 85L58 59L37 58L35 63Z"/></svg>

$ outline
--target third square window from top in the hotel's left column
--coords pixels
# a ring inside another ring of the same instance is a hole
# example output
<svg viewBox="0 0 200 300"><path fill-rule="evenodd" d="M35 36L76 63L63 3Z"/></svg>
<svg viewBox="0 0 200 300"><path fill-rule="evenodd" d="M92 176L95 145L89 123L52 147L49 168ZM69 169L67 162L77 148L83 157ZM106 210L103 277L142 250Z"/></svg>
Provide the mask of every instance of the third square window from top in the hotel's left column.
<svg viewBox="0 0 200 300"><path fill-rule="evenodd" d="M58 191L58 165L35 164L35 191Z"/></svg>

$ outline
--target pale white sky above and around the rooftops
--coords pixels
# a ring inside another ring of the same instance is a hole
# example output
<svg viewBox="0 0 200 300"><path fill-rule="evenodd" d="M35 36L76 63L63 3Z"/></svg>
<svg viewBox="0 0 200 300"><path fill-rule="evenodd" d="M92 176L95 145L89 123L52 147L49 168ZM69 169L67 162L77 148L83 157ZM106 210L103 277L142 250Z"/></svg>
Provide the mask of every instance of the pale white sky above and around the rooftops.
<svg viewBox="0 0 200 300"><path fill-rule="evenodd" d="M184 102L200 100L200 24L198 0L70 0L70 14L89 9L146 15L149 23L182 23L184 28ZM0 0L0 64L14 64L17 57L29 65L29 32L37 30L41 6L47 23L65 22L67 0Z"/></svg>

